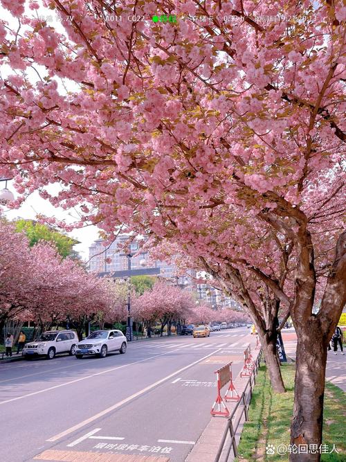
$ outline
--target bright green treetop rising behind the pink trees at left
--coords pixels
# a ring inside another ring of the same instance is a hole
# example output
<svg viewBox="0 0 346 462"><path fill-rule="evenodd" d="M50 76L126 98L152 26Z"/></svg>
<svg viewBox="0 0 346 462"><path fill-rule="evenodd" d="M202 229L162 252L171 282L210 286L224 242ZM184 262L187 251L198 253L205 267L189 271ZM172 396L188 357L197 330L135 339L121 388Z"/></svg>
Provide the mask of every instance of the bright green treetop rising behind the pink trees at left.
<svg viewBox="0 0 346 462"><path fill-rule="evenodd" d="M46 240L52 242L57 247L57 251L62 257L75 255L73 245L78 241L49 228L46 224L37 223L32 220L17 220L15 228L16 231L26 234L30 247L33 247L40 240Z"/></svg>

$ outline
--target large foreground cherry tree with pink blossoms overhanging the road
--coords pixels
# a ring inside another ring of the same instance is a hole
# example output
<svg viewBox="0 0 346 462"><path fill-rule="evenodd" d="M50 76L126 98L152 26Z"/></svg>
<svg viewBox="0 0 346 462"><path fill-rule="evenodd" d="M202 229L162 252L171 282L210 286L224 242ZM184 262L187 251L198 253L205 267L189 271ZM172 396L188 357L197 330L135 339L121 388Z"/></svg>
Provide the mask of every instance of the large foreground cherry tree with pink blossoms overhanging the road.
<svg viewBox="0 0 346 462"><path fill-rule="evenodd" d="M110 239L127 226L178 243L246 305L273 366L283 305L298 333L292 443L319 445L346 301L343 4L42 1L60 33L24 0L2 3L23 25L0 28L15 69L0 85L12 206L39 190ZM157 11L176 23L140 20Z"/></svg>

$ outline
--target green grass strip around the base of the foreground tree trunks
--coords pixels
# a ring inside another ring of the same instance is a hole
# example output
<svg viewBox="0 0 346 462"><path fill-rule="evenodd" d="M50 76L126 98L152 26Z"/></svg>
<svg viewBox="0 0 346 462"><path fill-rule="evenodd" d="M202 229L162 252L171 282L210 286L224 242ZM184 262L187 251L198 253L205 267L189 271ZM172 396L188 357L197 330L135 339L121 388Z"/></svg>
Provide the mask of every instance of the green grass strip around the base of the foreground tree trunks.
<svg viewBox="0 0 346 462"><path fill-rule="evenodd" d="M242 439L239 443L239 457L241 461L280 461L287 462L289 454L280 456L266 454L266 445L289 445L290 425L293 409L294 364L282 365L282 377L286 386L286 393L273 393L266 366L260 366L257 375L253 399L251 401L249 420L244 425ZM346 461L345 418L346 400L343 390L330 382L326 382L325 408L322 443L328 445L329 451L333 444L339 454L322 454L323 462Z"/></svg>

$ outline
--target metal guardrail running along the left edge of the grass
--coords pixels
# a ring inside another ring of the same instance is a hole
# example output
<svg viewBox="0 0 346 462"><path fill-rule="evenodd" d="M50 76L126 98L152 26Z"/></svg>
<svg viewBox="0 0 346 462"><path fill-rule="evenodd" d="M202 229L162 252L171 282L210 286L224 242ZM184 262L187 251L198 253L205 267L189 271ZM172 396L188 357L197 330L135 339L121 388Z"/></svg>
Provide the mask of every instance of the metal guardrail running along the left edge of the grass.
<svg viewBox="0 0 346 462"><path fill-rule="evenodd" d="M228 457L232 449L233 449L234 456L237 457L238 455L237 441L235 440L235 436L237 434L237 429L239 427L239 423L242 420L243 414L245 416L245 421L248 420L248 407L250 406L251 398L253 396L253 387L255 386L255 383L256 383L256 375L257 375L258 368L260 367L261 357L262 357L262 349L260 350L260 353L256 358L255 366L253 367L253 371L251 372L250 377L248 377L248 382L246 383L246 387L242 395L240 396L239 401L235 405L235 408L233 409L232 413L227 419L226 429L225 429L224 435L222 436L219 450L217 451L217 456L215 457L215 462L228 461ZM250 389L247 393L248 387L250 387ZM234 418L241 404L242 404L242 411L240 412L237 423L234 424L232 419ZM226 445L226 440L228 436L230 437L230 441L228 441L228 447L226 448L225 445ZM226 453L226 457L224 457L225 453ZM222 459L221 459L221 456L222 456Z"/></svg>

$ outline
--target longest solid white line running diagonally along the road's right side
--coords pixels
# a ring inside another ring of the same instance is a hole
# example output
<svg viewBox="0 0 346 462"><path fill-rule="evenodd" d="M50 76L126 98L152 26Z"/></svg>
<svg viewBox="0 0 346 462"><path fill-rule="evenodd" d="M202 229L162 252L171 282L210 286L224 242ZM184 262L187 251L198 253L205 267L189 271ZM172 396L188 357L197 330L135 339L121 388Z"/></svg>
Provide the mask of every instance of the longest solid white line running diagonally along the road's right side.
<svg viewBox="0 0 346 462"><path fill-rule="evenodd" d="M89 417L89 418L87 418L85 420L82 420L82 422L80 422L80 423L78 423L76 425L73 425L73 427L70 427L70 428L64 430L64 432L61 432L61 433L59 433L59 434L57 434L55 436L52 436L51 438L49 438L46 441L60 440L60 438L63 438L64 436L66 436L66 435L68 435L68 434L70 434L72 432L75 432L75 430L78 430L78 429L84 427L85 425L88 425L89 423L93 422L94 420L97 420L98 418L103 417L106 414L109 414L109 412L114 411L114 409L118 409L118 407L120 407L122 405L125 405L127 402L133 400L134 398L137 398L138 396L141 396L141 395L143 395L143 393L146 393L147 391L152 390L153 388L157 387L158 385L162 384L163 382L166 382L167 380L170 380L170 378L174 377L174 375L180 374L181 372L186 371L186 369L194 366L195 364L199 364L199 362L204 361L204 359L206 359L207 357L215 355L215 353L217 353L218 351L219 351L219 349L212 351L212 353L209 353L209 355L203 356L203 357L201 357L201 359L197 359L197 361L194 361L194 362L188 364L187 366L182 367L178 371L175 371L172 374L167 375L166 377L163 377L160 380L157 380L157 382L154 382L153 384L148 385L148 387L145 387L142 390L137 391L133 395L128 396L127 398L125 398L125 400L121 400L119 402L116 402L115 405L107 407L107 409L104 409L103 411L99 412L98 414L95 414L94 416L91 416L91 417ZM166 353L163 353L163 355L164 354L166 354ZM145 360L147 360L147 359L145 359Z"/></svg>

